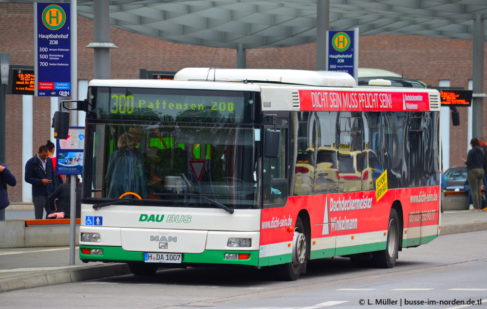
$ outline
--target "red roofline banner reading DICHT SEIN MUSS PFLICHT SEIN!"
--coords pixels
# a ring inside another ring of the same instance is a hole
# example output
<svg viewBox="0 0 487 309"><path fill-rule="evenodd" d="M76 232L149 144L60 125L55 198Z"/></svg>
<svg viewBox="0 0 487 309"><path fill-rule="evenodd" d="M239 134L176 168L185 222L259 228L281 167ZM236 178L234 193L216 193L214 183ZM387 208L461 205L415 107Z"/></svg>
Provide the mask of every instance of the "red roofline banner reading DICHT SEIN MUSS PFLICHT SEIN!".
<svg viewBox="0 0 487 309"><path fill-rule="evenodd" d="M300 90L301 110L425 111L430 110L428 92L318 91Z"/></svg>

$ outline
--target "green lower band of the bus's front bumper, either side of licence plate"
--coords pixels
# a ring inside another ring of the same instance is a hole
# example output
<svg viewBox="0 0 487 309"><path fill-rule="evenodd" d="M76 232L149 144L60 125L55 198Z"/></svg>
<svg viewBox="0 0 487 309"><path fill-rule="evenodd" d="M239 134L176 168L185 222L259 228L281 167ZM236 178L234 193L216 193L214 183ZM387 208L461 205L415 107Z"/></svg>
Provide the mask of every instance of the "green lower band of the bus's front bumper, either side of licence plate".
<svg viewBox="0 0 487 309"><path fill-rule="evenodd" d="M103 254L83 254L81 249L102 249ZM225 253L250 254L246 260L229 260L225 259ZM118 262L143 262L144 252L125 251L121 247L104 247L104 246L79 246L79 258L81 260L110 260ZM229 265L249 265L257 266L259 251L233 251L233 250L205 250L203 253L184 253L183 263L205 263L205 264L229 264Z"/></svg>

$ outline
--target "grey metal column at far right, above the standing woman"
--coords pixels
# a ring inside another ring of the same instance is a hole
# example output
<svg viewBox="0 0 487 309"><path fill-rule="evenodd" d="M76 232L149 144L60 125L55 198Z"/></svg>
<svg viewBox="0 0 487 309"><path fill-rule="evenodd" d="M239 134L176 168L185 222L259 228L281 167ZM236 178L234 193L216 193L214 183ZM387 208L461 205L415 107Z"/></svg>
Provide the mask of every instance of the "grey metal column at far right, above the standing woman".
<svg viewBox="0 0 487 309"><path fill-rule="evenodd" d="M473 97L472 97L472 136L482 136L484 111L484 32L485 22L481 15L473 21Z"/></svg>

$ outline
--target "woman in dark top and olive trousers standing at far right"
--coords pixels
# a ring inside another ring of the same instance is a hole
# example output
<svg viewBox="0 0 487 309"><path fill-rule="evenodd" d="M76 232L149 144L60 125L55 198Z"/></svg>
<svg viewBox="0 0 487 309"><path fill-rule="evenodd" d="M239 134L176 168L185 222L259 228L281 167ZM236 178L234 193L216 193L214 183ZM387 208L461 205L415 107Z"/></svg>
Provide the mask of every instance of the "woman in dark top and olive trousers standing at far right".
<svg viewBox="0 0 487 309"><path fill-rule="evenodd" d="M486 156L480 147L479 139L474 137L470 140L472 149L468 151L467 160L463 162L467 165L467 180L472 191L473 209L469 211L482 211L482 192L481 186L484 182L484 164Z"/></svg>

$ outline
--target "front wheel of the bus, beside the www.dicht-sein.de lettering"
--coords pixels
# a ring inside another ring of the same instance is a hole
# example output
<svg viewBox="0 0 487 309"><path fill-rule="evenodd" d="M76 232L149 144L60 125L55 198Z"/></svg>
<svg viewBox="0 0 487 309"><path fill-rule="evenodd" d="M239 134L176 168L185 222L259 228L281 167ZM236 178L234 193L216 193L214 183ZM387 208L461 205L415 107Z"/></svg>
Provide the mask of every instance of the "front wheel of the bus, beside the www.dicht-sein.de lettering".
<svg viewBox="0 0 487 309"><path fill-rule="evenodd" d="M299 217L294 228L292 261L280 265L280 267L281 279L286 281L298 279L306 267L306 235L304 235L304 226Z"/></svg>

